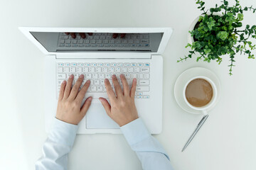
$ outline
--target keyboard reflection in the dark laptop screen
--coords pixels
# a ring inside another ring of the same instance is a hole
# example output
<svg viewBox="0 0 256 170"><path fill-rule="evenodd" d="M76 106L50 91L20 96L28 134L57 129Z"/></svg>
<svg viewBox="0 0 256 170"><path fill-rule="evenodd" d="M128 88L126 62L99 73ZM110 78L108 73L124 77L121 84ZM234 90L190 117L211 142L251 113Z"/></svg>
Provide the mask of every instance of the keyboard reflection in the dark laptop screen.
<svg viewBox="0 0 256 170"><path fill-rule="evenodd" d="M60 33L58 47L149 47L149 33L129 33L124 38L112 38L113 33L93 33L85 39Z"/></svg>

